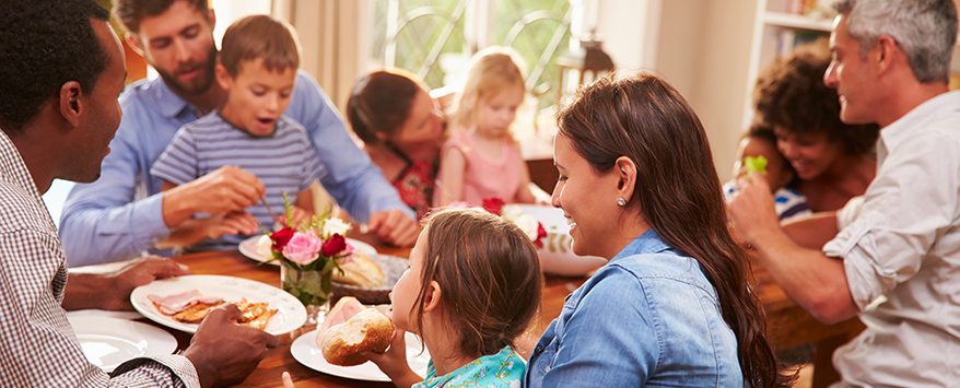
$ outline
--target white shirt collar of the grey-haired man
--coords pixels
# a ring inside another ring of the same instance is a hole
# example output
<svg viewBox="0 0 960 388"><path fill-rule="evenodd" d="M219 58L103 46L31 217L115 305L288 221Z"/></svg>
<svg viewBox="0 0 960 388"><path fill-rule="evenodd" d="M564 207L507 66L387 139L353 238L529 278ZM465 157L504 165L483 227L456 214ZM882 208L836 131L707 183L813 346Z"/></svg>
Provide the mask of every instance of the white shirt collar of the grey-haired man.
<svg viewBox="0 0 960 388"><path fill-rule="evenodd" d="M877 164L883 162L889 150L915 137L917 130L958 109L960 109L960 91L947 92L917 105L906 115L881 129Z"/></svg>

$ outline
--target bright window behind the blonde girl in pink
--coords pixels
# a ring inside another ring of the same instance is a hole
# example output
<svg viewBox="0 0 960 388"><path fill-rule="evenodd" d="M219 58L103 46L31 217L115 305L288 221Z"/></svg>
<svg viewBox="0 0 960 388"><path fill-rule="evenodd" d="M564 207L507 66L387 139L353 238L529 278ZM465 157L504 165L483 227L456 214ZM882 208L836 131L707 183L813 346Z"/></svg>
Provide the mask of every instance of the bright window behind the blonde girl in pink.
<svg viewBox="0 0 960 388"><path fill-rule="evenodd" d="M370 60L409 70L430 87L459 84L481 48L513 47L539 107L557 101L557 58L570 47L575 0L370 0ZM574 3L572 3L572 1Z"/></svg>

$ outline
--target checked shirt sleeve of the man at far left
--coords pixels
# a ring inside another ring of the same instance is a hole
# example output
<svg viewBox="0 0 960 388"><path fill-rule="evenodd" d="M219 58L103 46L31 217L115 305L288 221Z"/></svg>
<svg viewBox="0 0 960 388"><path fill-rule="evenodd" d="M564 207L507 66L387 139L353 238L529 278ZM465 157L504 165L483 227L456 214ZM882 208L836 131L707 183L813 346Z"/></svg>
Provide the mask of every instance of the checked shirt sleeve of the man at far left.
<svg viewBox="0 0 960 388"><path fill-rule="evenodd" d="M52 233L2 233L0 256L0 380L4 386L199 387L196 369L182 356L129 362L115 379L87 362L55 294L62 290L65 278L59 273L62 256Z"/></svg>

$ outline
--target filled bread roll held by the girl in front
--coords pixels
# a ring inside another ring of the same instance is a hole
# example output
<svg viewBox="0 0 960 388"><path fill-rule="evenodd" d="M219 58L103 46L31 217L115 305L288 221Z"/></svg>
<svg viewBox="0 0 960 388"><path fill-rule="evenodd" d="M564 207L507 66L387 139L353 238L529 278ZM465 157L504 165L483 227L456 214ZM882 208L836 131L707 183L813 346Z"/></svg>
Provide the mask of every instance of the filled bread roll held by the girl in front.
<svg viewBox="0 0 960 388"><path fill-rule="evenodd" d="M383 353L390 346L394 324L374 308L356 314L324 333L320 349L328 363L340 366L366 362L361 352Z"/></svg>

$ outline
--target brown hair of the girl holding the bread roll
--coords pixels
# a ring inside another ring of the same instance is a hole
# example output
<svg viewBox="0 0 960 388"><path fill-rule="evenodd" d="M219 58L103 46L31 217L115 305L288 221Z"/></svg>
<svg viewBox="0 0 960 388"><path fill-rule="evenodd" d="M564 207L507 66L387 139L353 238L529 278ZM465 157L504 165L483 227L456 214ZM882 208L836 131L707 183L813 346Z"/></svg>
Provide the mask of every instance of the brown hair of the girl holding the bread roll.
<svg viewBox="0 0 960 388"><path fill-rule="evenodd" d="M448 326L467 355L496 354L532 321L540 306L540 259L514 223L479 209L442 210L423 221L426 254L412 315L423 332L425 286L440 284Z"/></svg>

